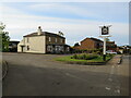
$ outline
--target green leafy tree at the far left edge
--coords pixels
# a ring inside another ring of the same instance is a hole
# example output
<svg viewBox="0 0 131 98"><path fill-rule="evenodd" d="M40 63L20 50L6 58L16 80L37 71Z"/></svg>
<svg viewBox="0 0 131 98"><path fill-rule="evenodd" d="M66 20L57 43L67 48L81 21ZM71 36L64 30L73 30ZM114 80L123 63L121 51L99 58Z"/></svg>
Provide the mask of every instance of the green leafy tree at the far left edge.
<svg viewBox="0 0 131 98"><path fill-rule="evenodd" d="M0 23L0 51L9 51L10 37L8 32L3 32L5 25Z"/></svg>

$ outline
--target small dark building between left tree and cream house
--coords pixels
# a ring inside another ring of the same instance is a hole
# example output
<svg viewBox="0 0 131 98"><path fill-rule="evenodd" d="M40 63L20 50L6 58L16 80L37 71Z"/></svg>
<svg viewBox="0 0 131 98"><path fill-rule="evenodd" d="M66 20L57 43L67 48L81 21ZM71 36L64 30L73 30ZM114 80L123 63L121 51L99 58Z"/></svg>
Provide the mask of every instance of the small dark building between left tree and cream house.
<svg viewBox="0 0 131 98"><path fill-rule="evenodd" d="M10 52L17 52L17 44L20 41L16 41L16 40L10 40L9 42L9 51Z"/></svg>

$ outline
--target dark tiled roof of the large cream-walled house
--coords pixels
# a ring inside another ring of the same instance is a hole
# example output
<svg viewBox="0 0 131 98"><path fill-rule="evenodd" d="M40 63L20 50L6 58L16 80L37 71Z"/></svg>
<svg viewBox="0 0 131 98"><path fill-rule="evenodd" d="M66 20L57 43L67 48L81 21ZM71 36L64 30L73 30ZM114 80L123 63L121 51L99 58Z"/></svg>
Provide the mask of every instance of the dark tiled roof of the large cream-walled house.
<svg viewBox="0 0 131 98"><path fill-rule="evenodd" d="M48 32L41 32L41 35L38 35L37 33L32 33L32 34L25 35L24 37L34 37L34 36L51 36L51 37L64 38L60 35L57 35L57 34L53 34L53 33L48 33Z"/></svg>

